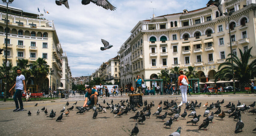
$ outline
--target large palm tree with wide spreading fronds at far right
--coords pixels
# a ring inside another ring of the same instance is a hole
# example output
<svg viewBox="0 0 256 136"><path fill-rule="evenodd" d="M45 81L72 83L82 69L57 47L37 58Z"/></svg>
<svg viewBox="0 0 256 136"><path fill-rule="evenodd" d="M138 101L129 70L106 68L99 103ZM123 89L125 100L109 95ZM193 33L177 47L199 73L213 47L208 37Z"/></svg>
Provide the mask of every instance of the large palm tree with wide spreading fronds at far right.
<svg viewBox="0 0 256 136"><path fill-rule="evenodd" d="M252 47L251 47L252 48ZM235 54L233 54L233 68L234 73L232 73L232 63L231 57L227 58L224 63L221 63L218 67L218 72L216 72L214 78L215 81L218 79L233 79L233 75L235 79L240 82L240 87L243 90L245 87L250 86L250 79L253 79L256 76L256 59L252 60L249 63L251 55L251 48L244 53L239 49L239 53L241 55L241 59L239 59ZM228 54L230 56L231 54Z"/></svg>

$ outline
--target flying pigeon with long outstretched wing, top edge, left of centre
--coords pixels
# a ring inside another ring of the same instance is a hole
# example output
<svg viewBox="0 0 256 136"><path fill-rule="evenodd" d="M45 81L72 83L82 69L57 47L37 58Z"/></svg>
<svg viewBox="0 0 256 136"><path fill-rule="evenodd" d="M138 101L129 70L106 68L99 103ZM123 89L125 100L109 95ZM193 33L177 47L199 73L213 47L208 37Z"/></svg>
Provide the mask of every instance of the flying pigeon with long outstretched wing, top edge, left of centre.
<svg viewBox="0 0 256 136"><path fill-rule="evenodd" d="M93 2L97 6L101 6L107 10L110 9L111 11L114 11L116 9L116 7L111 5L111 3L108 2L108 0L82 0L83 5L87 5L90 2Z"/></svg>

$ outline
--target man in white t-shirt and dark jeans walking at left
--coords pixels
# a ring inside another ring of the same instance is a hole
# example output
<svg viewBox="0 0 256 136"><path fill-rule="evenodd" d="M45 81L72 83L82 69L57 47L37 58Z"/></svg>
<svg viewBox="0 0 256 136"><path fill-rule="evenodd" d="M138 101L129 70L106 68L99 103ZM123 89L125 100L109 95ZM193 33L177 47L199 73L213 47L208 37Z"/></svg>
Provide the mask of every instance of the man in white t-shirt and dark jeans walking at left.
<svg viewBox="0 0 256 136"><path fill-rule="evenodd" d="M16 83L9 90L9 92L11 92L11 90L14 89L14 87L15 87L15 90L16 90L14 95L13 95L13 100L14 100L15 105L16 105L16 108L13 110L14 112L23 111L24 110L23 102L22 102L22 99L21 99L21 96L22 96L21 92L24 89L25 94L27 93L27 91L26 91L26 83L25 83L25 76L23 76L21 74L21 69L20 68L17 69L17 74L18 74L18 76L16 77ZM19 108L19 103L18 103L17 99L20 102L20 108Z"/></svg>

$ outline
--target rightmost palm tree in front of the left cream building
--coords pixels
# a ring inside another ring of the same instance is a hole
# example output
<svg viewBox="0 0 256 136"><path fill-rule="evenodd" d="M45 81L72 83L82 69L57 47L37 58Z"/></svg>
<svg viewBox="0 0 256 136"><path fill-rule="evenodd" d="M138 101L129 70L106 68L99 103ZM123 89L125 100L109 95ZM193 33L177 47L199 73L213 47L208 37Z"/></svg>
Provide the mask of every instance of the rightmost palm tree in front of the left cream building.
<svg viewBox="0 0 256 136"><path fill-rule="evenodd" d="M32 75L35 77L35 84L38 85L38 92L41 91L44 80L49 73L49 67L43 58L38 58L32 63Z"/></svg>

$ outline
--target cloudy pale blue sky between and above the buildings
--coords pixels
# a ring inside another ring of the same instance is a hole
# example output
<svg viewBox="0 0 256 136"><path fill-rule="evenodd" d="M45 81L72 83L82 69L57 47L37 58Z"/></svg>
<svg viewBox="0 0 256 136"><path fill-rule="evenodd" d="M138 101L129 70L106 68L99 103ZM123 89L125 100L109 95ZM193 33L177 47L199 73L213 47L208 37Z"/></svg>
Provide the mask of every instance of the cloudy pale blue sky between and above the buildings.
<svg viewBox="0 0 256 136"><path fill-rule="evenodd" d="M55 0L14 0L9 6L37 14L37 8L55 23L63 51L66 51L72 77L91 75L103 62L117 56L130 31L142 20L206 7L208 0L108 0L115 11L106 10L81 0L68 0L70 9L58 6ZM2 3L3 4L3 3ZM101 51L101 39L113 45Z"/></svg>

